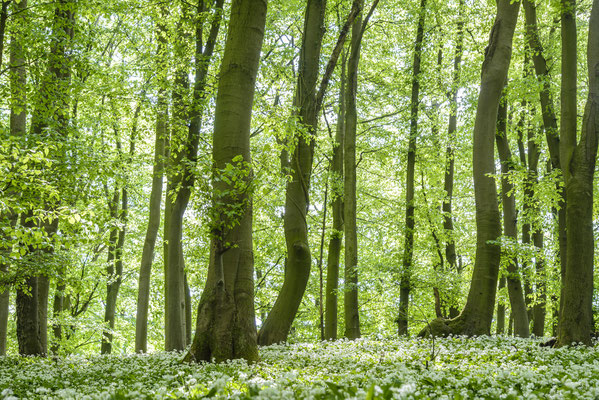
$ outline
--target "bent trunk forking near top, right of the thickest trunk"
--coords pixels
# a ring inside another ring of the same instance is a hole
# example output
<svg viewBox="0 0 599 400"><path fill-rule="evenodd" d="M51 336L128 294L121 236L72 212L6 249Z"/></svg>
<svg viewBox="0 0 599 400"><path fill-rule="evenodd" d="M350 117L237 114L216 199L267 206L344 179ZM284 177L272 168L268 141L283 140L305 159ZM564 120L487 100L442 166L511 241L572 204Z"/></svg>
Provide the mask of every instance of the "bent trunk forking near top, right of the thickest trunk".
<svg viewBox="0 0 599 400"><path fill-rule="evenodd" d="M326 1L308 0L306 5L294 109L297 110L299 123L307 129L307 134L295 133L299 140L291 156L289 163L291 179L285 189L285 216L283 219L287 246L285 279L277 300L258 333L258 343L261 345L278 343L287 339L310 277L312 261L308 245L307 212L317 116L349 26L360 11L358 3L359 0L354 0L352 11L341 30L318 91L316 85L324 35ZM282 160L282 164L286 165L286 160Z"/></svg>

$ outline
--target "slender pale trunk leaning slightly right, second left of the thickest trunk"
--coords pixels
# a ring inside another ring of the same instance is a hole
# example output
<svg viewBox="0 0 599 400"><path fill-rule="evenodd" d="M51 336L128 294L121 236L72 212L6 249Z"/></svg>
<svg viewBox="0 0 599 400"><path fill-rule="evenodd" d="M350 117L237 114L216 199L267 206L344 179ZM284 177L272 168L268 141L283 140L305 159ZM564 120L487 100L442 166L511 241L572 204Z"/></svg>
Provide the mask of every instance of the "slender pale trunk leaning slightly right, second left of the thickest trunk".
<svg viewBox="0 0 599 400"><path fill-rule="evenodd" d="M161 9L161 16L166 17L166 10ZM160 228L160 205L162 203L162 176L164 174L164 148L167 136L168 106L166 103L167 91L167 60L166 60L166 27L162 22L157 23L157 67L159 74L158 95L156 101L156 139L154 142L154 165L152 170L152 190L150 192L150 215L148 228L141 254L141 267L139 270L139 284L137 295L137 314L135 318L135 351L145 353L148 351L148 306L150 303L150 277L152 262L154 260L154 247Z"/></svg>

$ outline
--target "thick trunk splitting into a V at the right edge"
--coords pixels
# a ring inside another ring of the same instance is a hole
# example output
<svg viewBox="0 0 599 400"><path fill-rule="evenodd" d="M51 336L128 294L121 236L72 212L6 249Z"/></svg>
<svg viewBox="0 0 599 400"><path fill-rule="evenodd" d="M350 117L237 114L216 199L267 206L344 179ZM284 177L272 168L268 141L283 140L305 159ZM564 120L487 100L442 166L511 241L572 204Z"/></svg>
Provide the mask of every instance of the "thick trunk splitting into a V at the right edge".
<svg viewBox="0 0 599 400"><path fill-rule="evenodd" d="M563 45L576 43L574 2L572 8L562 14L562 24L567 24L563 32ZM563 26L563 25L562 25ZM573 40L566 40L568 38ZM563 50L562 50L563 51ZM572 53L569 53L573 51ZM562 74L566 71L570 77L569 83L564 88L575 90L576 82L576 51L568 49L562 55L562 60L570 60L562 67ZM589 37L587 47L587 63L589 71L589 94L582 122L582 133L576 144L576 132L572 135L569 130L562 131L568 135L563 140L564 178L566 182L566 231L567 260L566 276L562 282L563 302L560 313L560 327L558 346L572 343L591 344L591 331L593 327L593 178L595 160L597 157L597 141L599 135L599 0L593 0L593 8L589 20ZM570 76L573 74L573 76ZM567 79L567 78L566 78ZM566 83L566 82L563 82ZM572 84L574 85L572 87ZM562 93L562 96L567 93ZM571 98L575 91L570 91L568 100L562 107L571 106L568 111L574 112L570 116L575 120L574 105ZM570 127L571 128L571 127Z"/></svg>

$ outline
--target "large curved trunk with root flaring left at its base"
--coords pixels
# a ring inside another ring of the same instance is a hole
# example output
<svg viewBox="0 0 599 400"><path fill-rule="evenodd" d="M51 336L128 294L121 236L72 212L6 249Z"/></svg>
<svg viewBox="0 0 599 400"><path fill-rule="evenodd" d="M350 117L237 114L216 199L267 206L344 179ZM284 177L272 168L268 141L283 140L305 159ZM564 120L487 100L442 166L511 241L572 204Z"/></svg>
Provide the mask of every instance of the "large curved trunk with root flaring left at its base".
<svg viewBox="0 0 599 400"><path fill-rule="evenodd" d="M476 261L466 306L458 317L447 322L437 320L431 324L432 329L425 329L421 334L490 334L501 257L495 242L501 234L501 222L495 179L491 176L495 173L493 142L519 9L520 2L498 0L497 16L482 65L473 147Z"/></svg>

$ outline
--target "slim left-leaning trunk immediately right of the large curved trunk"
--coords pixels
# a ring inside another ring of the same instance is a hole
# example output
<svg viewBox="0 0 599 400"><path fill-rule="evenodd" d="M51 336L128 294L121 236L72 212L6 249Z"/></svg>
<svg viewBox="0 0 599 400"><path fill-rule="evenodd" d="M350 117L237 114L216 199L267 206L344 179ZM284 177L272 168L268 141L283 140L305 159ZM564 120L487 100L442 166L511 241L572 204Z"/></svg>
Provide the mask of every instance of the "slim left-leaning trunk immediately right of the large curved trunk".
<svg viewBox="0 0 599 400"><path fill-rule="evenodd" d="M510 173L514 171L514 160L507 139L507 104L505 97L499 105L497 115L497 153L501 161L501 203L503 205L503 230L504 235L516 243L518 241L518 224L516 212L516 195L514 184L510 181ZM524 291L518 271L516 257L507 260L507 288L510 297L512 317L514 318L514 335L529 337L528 314L524 301Z"/></svg>

